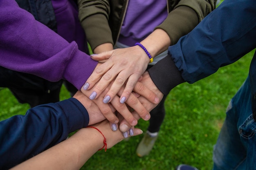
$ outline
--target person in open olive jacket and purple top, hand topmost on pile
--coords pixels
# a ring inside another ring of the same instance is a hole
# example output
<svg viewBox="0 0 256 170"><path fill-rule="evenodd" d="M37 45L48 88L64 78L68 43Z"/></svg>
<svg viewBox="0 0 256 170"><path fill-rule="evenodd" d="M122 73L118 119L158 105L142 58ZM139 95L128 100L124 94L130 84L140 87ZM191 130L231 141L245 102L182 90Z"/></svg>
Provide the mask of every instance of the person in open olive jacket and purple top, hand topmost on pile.
<svg viewBox="0 0 256 170"><path fill-rule="evenodd" d="M166 3L165 0L147 0L149 6L146 6L144 1L128 2L125 0L124 4L118 4L119 2L115 0L111 2L112 4L103 0L78 1L79 19L88 35L88 42L92 46L93 52L96 53L91 56L92 59L98 61L108 59L88 78L85 89L93 89L92 91L96 95L92 99L96 99L108 84L113 82L108 93L103 97L104 103L111 102L123 84L126 84L126 87L119 95L120 103L126 102L148 65L155 62L154 59L154 62L150 63L151 60L167 51L168 46L175 44L180 37L189 33L208 13L215 9L216 1L175 0L174 3L168 0ZM136 6L136 3L139 5ZM122 7L120 11L116 11L119 7ZM113 16L118 13L122 15ZM116 23L117 20L120 22ZM100 21L101 24L99 25L99 22L95 21ZM150 31L147 30L148 28ZM147 30L146 33L144 33L145 30ZM132 36L129 37L129 35ZM121 49L118 46L119 43L126 42L127 48ZM137 42L141 45L134 45ZM104 44L112 44L114 50L99 51L98 49ZM142 46L143 48L141 48ZM97 82L99 83L97 84Z"/></svg>

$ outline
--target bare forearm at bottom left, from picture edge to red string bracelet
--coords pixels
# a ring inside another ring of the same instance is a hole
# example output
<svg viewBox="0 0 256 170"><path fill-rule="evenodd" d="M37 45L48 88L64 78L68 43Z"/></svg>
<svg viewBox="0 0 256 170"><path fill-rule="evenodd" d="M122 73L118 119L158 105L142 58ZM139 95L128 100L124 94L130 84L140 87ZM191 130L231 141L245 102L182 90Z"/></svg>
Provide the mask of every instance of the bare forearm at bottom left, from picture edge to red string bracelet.
<svg viewBox="0 0 256 170"><path fill-rule="evenodd" d="M79 170L103 146L102 135L83 128L69 139L12 168L12 170Z"/></svg>

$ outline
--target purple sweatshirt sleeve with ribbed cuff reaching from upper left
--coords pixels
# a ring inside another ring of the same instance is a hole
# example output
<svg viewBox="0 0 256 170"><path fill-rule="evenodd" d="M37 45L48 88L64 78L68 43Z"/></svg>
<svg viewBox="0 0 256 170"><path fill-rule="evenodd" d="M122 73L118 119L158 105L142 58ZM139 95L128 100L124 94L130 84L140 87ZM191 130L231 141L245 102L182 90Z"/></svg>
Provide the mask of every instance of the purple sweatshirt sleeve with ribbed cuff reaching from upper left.
<svg viewBox="0 0 256 170"><path fill-rule="evenodd" d="M80 89L97 61L79 51L21 9L15 0L0 0L0 66L57 82L66 79Z"/></svg>

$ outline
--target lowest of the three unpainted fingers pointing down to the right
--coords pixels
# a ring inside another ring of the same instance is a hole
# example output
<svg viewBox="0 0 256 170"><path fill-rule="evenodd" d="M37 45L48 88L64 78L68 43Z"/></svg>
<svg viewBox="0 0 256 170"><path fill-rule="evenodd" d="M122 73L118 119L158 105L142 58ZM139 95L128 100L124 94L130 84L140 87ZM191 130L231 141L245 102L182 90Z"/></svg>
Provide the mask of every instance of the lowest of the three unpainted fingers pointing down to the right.
<svg viewBox="0 0 256 170"><path fill-rule="evenodd" d="M126 104L121 104L119 102L119 97L115 96L114 99L111 101L111 104L115 107L115 109L120 113L124 119L130 124L131 126L137 125L138 121L133 117L132 113L129 111Z"/></svg>

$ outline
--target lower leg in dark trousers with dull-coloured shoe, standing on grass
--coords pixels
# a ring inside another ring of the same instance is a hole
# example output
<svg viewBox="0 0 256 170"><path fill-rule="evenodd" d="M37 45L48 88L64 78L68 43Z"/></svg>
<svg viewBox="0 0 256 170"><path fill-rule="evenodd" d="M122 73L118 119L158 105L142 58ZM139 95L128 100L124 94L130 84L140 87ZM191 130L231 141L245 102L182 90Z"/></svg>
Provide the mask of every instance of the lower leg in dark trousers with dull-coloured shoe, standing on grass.
<svg viewBox="0 0 256 170"><path fill-rule="evenodd" d="M165 109L164 109L164 101L166 99L166 95L164 95L162 101L150 112L150 120L148 129L140 141L136 153L139 157L143 157L148 155L152 150L155 141L158 137L158 132L160 127L164 121Z"/></svg>

